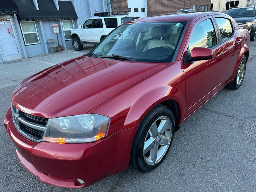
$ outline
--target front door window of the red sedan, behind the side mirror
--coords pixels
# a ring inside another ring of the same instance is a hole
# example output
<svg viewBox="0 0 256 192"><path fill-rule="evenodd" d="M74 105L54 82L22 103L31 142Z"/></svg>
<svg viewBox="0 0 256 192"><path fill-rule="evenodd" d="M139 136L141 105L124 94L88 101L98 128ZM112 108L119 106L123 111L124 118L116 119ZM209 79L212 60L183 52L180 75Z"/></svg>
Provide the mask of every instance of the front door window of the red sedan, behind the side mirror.
<svg viewBox="0 0 256 192"><path fill-rule="evenodd" d="M198 23L192 33L189 50L191 51L194 47L212 48L215 45L217 45L217 38L212 21L207 19Z"/></svg>

